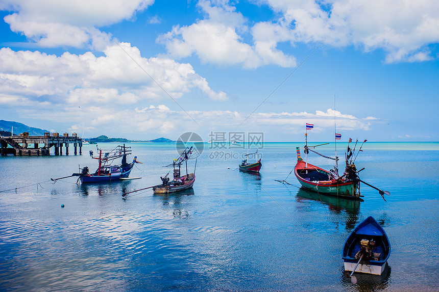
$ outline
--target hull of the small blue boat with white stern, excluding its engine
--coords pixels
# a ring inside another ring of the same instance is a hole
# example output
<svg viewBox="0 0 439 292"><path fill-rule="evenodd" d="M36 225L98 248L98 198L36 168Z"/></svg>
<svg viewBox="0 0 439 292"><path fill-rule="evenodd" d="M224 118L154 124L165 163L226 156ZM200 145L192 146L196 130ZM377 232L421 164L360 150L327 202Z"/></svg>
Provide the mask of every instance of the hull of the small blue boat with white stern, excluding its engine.
<svg viewBox="0 0 439 292"><path fill-rule="evenodd" d="M379 260L361 261L355 272L381 275L386 267L387 259L391 253L391 246L382 227L373 217L368 217L351 232L343 246L343 260L345 271L352 272L358 263L355 255L360 250L360 241L363 239L376 242L373 252L380 253Z"/></svg>

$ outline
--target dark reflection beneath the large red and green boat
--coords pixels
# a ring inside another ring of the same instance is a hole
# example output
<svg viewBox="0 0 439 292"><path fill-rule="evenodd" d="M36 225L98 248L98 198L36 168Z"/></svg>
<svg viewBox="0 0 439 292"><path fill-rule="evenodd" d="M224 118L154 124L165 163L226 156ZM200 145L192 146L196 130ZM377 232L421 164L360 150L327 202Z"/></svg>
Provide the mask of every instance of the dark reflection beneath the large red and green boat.
<svg viewBox="0 0 439 292"><path fill-rule="evenodd" d="M301 202L303 200L311 200L323 203L334 215L343 216L346 229L354 229L358 225L359 213L360 213L360 201L348 200L337 198L333 196L327 196L324 194L315 193L312 191L299 189L296 194L296 200Z"/></svg>

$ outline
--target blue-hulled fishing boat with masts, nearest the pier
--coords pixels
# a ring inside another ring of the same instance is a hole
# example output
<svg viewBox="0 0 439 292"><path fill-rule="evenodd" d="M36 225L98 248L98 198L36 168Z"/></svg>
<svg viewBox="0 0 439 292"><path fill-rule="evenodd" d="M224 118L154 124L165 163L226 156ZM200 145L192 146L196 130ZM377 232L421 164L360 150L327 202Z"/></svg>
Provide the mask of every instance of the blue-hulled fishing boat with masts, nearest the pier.
<svg viewBox="0 0 439 292"><path fill-rule="evenodd" d="M93 156L93 151L90 151L91 158L99 162L94 173L90 173L88 167L80 168L80 173L74 173L71 176L79 176L77 182L109 182L121 179L127 179L137 161L137 156L134 156L132 163L127 163L127 155L131 154L131 147L117 146L109 150L98 149L99 156ZM117 158L122 158L120 165L112 165L111 163Z"/></svg>

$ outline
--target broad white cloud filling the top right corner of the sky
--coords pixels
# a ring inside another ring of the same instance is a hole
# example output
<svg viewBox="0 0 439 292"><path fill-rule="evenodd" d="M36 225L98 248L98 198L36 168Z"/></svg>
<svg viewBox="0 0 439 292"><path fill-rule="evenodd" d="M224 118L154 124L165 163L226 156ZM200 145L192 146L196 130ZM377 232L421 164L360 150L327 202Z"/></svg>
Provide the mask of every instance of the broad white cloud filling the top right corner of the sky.
<svg viewBox="0 0 439 292"><path fill-rule="evenodd" d="M291 42L323 42L364 51L383 49L385 61L431 60L429 44L439 41L437 1L288 1L265 0L282 14Z"/></svg>

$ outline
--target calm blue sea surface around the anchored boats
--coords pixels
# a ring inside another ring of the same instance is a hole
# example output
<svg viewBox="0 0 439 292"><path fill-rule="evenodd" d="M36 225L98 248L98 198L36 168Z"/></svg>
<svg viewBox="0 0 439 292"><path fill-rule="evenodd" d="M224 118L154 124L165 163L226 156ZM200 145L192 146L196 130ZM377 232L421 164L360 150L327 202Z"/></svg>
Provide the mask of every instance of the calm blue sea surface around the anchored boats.
<svg viewBox="0 0 439 292"><path fill-rule="evenodd" d="M265 143L259 176L236 170L247 149L206 143L193 190L124 199L161 183L162 166L178 156L172 143L128 146L143 163L131 177L142 178L106 184L50 180L79 165L94 171L95 145L77 156L0 157L0 290L439 290L439 143L363 145L360 177L391 192L387 202L366 185L355 202L300 190L293 173L292 185L275 181L288 176L303 143ZM344 147L337 143L339 156ZM319 150L333 155L333 144ZM312 153L308 161L332 167ZM383 226L392 254L385 275L358 274L353 285L342 248L368 216Z"/></svg>

